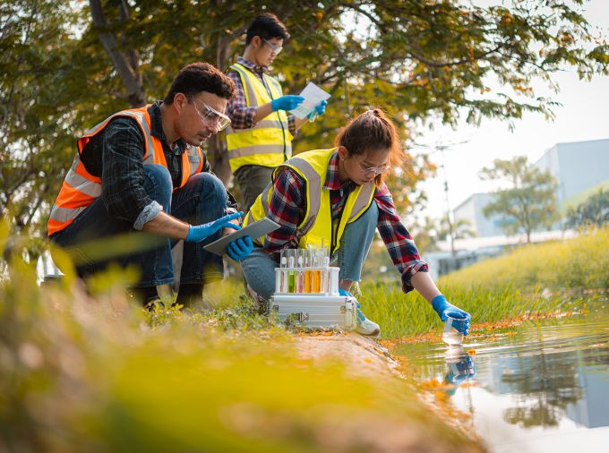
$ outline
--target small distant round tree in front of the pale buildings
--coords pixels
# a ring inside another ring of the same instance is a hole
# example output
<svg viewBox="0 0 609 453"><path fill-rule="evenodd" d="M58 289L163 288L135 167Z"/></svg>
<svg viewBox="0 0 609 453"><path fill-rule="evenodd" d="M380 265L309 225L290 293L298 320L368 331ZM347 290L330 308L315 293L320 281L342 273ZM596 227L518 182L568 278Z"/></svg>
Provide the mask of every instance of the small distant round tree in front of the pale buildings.
<svg viewBox="0 0 609 453"><path fill-rule="evenodd" d="M493 167L483 168L480 175L483 179L504 179L510 184L509 189L494 192L493 201L484 209L486 217L502 216L502 229L507 235L524 231L530 243L534 230L542 226L549 228L558 220L557 183L550 172L529 167L526 156L495 159Z"/></svg>

